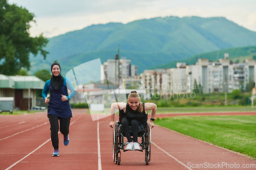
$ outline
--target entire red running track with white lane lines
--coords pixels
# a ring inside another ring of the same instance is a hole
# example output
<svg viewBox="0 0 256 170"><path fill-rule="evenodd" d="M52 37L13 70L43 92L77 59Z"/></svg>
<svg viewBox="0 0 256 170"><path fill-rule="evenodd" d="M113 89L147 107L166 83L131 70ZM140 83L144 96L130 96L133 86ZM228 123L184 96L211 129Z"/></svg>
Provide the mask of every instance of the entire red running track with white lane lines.
<svg viewBox="0 0 256 170"><path fill-rule="evenodd" d="M138 151L121 151L121 165L117 165L113 162L110 118L93 122L85 112L73 110L68 146L63 145L59 134L59 157L51 156L47 113L1 115L0 169L199 169L194 167L197 164L204 165L200 169L255 169L242 167L256 164L255 160L158 126L152 129L152 159L148 166L144 163L145 153ZM256 112L182 115L220 114L256 115ZM240 168L231 168L238 164Z"/></svg>

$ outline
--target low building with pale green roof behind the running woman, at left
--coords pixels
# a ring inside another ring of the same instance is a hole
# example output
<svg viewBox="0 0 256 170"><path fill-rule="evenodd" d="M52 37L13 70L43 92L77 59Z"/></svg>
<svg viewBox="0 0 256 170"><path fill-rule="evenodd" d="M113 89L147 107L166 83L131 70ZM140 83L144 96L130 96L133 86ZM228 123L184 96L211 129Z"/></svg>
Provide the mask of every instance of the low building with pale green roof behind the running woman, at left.
<svg viewBox="0 0 256 170"><path fill-rule="evenodd" d="M28 110L36 106L37 89L45 82L35 76L5 76L0 74L0 97L13 97L13 107Z"/></svg>

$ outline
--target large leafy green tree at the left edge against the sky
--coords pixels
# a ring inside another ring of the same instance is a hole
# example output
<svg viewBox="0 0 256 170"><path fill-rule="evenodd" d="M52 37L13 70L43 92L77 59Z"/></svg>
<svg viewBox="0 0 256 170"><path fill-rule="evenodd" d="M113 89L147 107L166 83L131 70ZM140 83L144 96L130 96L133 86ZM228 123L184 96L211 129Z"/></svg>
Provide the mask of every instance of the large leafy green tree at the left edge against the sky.
<svg viewBox="0 0 256 170"><path fill-rule="evenodd" d="M15 75L23 67L30 69L29 54L34 56L40 51L46 59L47 51L43 50L48 40L42 36L30 37L30 22L34 14L7 0L0 0L0 73Z"/></svg>

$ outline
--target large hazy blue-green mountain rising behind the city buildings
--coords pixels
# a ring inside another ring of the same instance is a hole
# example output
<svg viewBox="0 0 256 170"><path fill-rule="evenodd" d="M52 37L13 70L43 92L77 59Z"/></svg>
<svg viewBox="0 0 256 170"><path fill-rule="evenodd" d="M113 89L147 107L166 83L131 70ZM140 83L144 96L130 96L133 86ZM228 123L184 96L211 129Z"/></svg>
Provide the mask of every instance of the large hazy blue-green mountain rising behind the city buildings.
<svg viewBox="0 0 256 170"><path fill-rule="evenodd" d="M103 63L114 59L118 44L120 57L131 59L138 71L143 72L149 67L202 53L256 45L256 32L224 17L170 16L126 24L92 25L49 38L46 50L50 54L46 60L39 55L31 56L31 72L48 69L54 60L62 65L62 74L68 71L67 68L96 58Z"/></svg>

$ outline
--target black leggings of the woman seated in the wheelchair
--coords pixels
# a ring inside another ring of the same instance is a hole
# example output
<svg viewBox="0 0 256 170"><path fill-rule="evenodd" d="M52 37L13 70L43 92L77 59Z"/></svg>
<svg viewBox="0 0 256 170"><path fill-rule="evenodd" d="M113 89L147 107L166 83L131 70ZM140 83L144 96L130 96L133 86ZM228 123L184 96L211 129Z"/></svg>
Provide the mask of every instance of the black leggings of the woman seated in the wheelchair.
<svg viewBox="0 0 256 170"><path fill-rule="evenodd" d="M132 126L133 140L130 134L129 126ZM132 142L132 141L138 142L139 123L137 120L132 120L130 122L126 117L123 117L122 128L128 142Z"/></svg>

